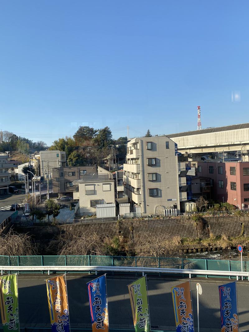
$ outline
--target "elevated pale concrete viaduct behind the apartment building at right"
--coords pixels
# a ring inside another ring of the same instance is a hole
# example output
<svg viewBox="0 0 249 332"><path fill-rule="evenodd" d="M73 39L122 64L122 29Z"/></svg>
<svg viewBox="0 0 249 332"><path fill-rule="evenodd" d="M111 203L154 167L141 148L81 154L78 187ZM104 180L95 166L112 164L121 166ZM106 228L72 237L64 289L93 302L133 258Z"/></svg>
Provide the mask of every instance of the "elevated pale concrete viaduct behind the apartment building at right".
<svg viewBox="0 0 249 332"><path fill-rule="evenodd" d="M178 145L181 153L249 150L249 123L213 127L166 135Z"/></svg>

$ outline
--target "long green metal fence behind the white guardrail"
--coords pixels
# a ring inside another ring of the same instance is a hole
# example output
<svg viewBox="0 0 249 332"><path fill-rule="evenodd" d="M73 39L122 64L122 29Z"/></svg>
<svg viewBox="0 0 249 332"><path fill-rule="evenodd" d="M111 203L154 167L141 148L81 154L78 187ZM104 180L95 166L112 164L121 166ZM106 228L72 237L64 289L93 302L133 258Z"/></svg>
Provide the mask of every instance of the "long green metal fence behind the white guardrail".
<svg viewBox="0 0 249 332"><path fill-rule="evenodd" d="M1 266L131 266L168 269L241 271L240 261L126 256L0 256ZM243 262L249 272L249 261Z"/></svg>

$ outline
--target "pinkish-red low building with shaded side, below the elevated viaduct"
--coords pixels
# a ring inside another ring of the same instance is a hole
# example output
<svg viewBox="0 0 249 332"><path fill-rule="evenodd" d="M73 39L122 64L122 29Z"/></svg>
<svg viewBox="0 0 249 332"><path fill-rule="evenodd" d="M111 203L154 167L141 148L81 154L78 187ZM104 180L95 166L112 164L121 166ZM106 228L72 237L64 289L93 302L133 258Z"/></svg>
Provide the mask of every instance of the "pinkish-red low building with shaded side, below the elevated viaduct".
<svg viewBox="0 0 249 332"><path fill-rule="evenodd" d="M249 208L249 162L199 162L197 175L211 179L214 199Z"/></svg>

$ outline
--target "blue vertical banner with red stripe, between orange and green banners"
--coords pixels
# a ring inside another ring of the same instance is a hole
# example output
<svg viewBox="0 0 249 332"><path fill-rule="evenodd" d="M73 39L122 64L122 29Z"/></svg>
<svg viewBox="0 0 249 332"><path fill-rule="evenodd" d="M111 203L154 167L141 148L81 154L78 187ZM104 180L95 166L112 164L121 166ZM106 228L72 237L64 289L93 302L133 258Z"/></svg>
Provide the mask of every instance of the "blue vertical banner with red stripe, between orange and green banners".
<svg viewBox="0 0 249 332"><path fill-rule="evenodd" d="M109 331L106 275L87 283L93 332Z"/></svg>

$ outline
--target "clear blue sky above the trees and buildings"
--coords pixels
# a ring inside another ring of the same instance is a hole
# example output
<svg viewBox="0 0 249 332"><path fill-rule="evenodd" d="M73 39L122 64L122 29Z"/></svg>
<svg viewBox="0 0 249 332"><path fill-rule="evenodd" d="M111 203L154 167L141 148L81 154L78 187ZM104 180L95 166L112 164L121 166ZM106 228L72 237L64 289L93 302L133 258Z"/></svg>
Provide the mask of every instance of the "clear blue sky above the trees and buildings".
<svg viewBox="0 0 249 332"><path fill-rule="evenodd" d="M248 122L248 1L1 1L0 129L47 144ZM232 99L233 96L233 99ZM235 96L235 97L234 97Z"/></svg>

